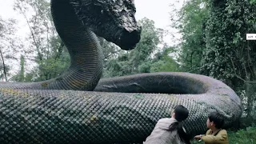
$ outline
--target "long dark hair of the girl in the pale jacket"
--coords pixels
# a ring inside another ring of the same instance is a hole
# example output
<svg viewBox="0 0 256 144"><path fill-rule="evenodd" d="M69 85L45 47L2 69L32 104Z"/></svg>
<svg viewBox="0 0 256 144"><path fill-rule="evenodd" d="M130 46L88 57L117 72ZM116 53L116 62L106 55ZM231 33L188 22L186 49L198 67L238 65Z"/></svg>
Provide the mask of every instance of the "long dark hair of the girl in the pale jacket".
<svg viewBox="0 0 256 144"><path fill-rule="evenodd" d="M175 113L175 119L178 122L173 122L169 126L169 130L170 131L177 130L178 131L178 136L179 136L179 138L181 138L182 142L190 144L190 138L186 134L186 132L183 130L183 126L182 126L182 123L181 123L182 121L184 121L189 116L189 110L187 110L185 106L178 105L178 106L174 107L173 112Z"/></svg>

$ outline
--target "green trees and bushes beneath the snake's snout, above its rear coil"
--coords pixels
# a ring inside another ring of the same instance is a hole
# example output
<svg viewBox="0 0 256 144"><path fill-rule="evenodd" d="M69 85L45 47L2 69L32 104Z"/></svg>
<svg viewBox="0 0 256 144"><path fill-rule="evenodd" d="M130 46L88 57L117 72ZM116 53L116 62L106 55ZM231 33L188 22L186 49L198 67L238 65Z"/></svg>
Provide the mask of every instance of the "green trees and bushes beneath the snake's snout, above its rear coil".
<svg viewBox="0 0 256 144"><path fill-rule="evenodd" d="M139 21L139 24L142 26L141 41L138 42L134 50L117 51L116 48L112 49L114 53L110 53L111 58L106 58L103 71L104 77L150 73L162 70L177 71L178 64L169 56L172 47L165 46L162 52L158 52L154 56L154 52L159 51L158 45L162 44L163 30L157 29L154 26L154 21L147 18L143 18ZM107 49L111 50L110 48Z"/></svg>

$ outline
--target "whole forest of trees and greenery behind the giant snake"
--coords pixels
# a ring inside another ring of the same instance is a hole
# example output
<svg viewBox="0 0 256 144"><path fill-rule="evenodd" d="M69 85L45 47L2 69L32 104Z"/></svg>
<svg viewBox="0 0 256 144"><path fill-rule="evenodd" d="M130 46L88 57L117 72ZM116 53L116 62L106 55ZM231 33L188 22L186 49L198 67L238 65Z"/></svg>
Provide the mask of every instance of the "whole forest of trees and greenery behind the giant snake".
<svg viewBox="0 0 256 144"><path fill-rule="evenodd" d="M54 27L47 0L17 0L14 10L26 20L26 42L14 37L15 19L0 18L2 82L39 82L56 78L70 66L66 46ZM28 13L32 10L33 13ZM163 41L165 30L143 18L141 40L121 50L98 37L104 54L102 78L152 72L189 72L216 78L241 98L239 126L229 130L230 143L256 143L256 0L187 0L170 5L170 26L182 34L178 44ZM14 71L12 62L18 62ZM200 143L200 142L194 142Z"/></svg>

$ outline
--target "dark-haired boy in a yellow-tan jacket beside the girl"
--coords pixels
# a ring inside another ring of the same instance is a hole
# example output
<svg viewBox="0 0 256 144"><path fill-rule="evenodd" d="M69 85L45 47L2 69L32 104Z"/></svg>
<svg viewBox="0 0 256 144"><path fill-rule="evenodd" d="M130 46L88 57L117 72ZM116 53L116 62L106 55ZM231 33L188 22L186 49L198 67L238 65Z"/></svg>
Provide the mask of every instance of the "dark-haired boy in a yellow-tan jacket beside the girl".
<svg viewBox="0 0 256 144"><path fill-rule="evenodd" d="M202 140L205 144L215 143L215 144L228 144L228 137L226 130L222 130L224 124L224 119L222 114L218 112L212 112L209 114L206 122L207 130L206 135L197 135L194 138Z"/></svg>

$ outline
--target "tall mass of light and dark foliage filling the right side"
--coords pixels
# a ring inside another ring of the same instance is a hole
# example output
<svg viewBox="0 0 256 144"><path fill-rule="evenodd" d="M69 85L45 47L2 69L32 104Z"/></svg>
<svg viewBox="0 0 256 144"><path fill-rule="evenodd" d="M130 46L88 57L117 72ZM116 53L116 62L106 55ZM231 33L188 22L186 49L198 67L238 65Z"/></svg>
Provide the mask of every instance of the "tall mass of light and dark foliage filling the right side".
<svg viewBox="0 0 256 144"><path fill-rule="evenodd" d="M225 82L240 95L246 117L255 117L256 89L248 83L256 83L256 41L246 40L256 33L254 0L190 0L177 16L182 70Z"/></svg>

